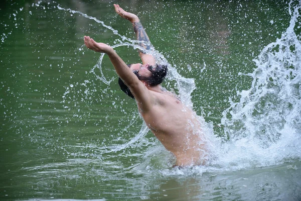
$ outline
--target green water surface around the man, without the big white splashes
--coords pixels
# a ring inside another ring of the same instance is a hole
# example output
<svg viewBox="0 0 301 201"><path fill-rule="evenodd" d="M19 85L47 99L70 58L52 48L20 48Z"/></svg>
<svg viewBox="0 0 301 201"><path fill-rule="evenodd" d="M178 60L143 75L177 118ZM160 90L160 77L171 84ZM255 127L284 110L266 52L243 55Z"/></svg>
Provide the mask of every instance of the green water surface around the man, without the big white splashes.
<svg viewBox="0 0 301 201"><path fill-rule="evenodd" d="M89 73L100 55L83 46L83 36L110 45L120 38L91 19L54 7L80 11L134 39L130 23L115 14L117 2L36 3L0 4L1 199L301 198L298 160L236 171L176 170L173 157L150 132L120 148L136 136L142 120L119 89L107 57L102 70L114 78L110 85ZM213 123L217 136L224 136L220 120L229 97L238 100L237 91L250 87L252 79L239 73L256 68L252 59L290 20L286 1L118 4L139 16L154 47L182 76L195 79L194 110ZM126 63L140 62L131 47L115 50ZM164 86L173 90L174 84Z"/></svg>

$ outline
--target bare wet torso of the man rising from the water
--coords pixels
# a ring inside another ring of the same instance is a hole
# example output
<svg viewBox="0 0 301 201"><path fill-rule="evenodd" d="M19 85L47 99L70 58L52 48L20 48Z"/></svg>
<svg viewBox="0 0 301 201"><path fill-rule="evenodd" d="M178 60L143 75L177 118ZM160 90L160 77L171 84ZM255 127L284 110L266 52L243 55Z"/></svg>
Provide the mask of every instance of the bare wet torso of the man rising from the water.
<svg viewBox="0 0 301 201"><path fill-rule="evenodd" d="M139 110L148 128L167 150L176 155L177 165L200 164L202 131L195 113L171 92L151 92L154 97L152 109L148 112Z"/></svg>

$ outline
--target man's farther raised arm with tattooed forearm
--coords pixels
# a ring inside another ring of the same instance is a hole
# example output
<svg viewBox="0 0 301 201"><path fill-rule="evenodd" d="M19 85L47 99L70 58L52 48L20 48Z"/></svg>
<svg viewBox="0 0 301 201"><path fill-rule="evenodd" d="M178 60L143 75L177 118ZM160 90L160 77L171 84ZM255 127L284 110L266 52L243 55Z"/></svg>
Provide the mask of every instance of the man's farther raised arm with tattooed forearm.
<svg viewBox="0 0 301 201"><path fill-rule="evenodd" d="M115 7L116 13L119 16L121 16L122 18L124 18L132 23L137 40L144 41L144 43L147 43L147 44L139 43L139 45L141 47L143 47L144 49L149 50L150 49L150 41L149 41L149 38L148 38L142 24L139 21L139 18L132 13L128 13L128 12L124 11L123 9L121 9L119 7L119 5L114 4L114 7ZM153 57L153 55L145 54L140 50L138 50L138 51L139 51L139 56L140 56L143 64L149 64L149 65L156 64L156 60Z"/></svg>

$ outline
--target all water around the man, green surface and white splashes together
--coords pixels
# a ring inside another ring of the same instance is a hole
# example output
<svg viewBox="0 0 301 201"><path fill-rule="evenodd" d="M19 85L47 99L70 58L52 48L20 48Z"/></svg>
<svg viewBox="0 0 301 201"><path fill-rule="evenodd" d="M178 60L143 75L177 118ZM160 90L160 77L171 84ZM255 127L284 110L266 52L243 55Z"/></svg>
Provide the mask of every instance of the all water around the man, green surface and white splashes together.
<svg viewBox="0 0 301 201"><path fill-rule="evenodd" d="M299 200L298 2L123 4L169 63L164 86L204 116L216 159L171 168L175 158L120 91L108 58L100 66L83 46L90 35L138 61L112 3L8 1L1 198Z"/></svg>

